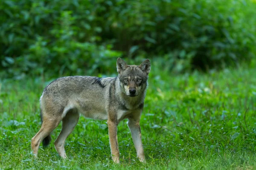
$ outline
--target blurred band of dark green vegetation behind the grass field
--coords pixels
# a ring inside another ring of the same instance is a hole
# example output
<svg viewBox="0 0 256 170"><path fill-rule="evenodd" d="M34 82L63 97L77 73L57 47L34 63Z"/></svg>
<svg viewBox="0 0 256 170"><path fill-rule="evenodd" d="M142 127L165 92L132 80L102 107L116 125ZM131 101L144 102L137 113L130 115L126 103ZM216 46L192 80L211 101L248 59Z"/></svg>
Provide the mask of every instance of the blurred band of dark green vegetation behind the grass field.
<svg viewBox="0 0 256 170"><path fill-rule="evenodd" d="M108 74L117 57L177 73L250 63L255 9L255 0L1 0L0 76Z"/></svg>

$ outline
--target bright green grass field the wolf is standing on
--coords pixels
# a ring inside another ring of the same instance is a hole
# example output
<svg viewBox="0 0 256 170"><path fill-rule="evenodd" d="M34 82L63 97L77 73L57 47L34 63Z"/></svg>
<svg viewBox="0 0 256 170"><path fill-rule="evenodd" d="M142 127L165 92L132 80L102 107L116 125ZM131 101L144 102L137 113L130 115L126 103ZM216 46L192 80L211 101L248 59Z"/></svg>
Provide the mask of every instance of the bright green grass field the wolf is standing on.
<svg viewBox="0 0 256 170"><path fill-rule="evenodd" d="M121 164L111 161L106 121L81 117L61 159L53 141L33 159L39 97L52 79L0 81L0 169L256 169L256 68L174 75L152 64L141 119L146 163L126 124L118 126Z"/></svg>

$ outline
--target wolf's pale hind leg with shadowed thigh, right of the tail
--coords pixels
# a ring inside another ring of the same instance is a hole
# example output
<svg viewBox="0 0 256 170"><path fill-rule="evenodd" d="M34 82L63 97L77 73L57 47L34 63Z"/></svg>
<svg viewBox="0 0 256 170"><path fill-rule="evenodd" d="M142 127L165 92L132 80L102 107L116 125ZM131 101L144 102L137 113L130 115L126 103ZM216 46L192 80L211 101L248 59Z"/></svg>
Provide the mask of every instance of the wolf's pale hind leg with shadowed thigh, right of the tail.
<svg viewBox="0 0 256 170"><path fill-rule="evenodd" d="M59 134L58 138L55 140L54 145L58 154L64 159L67 158L67 155L64 149L65 140L67 139L67 136L69 136L70 133L76 127L79 117L80 115L78 111L76 109L72 109L68 111L66 116L62 119L61 133Z"/></svg>

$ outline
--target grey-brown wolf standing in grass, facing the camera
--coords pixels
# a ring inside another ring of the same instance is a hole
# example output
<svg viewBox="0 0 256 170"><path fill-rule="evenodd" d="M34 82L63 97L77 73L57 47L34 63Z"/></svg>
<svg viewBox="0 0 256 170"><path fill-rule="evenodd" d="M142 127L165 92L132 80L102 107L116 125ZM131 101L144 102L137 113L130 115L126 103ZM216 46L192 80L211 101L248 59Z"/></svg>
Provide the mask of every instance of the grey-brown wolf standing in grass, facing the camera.
<svg viewBox="0 0 256 170"><path fill-rule="evenodd" d="M140 117L151 69L149 59L140 65L127 65L118 58L118 77L70 76L55 79L40 98L41 128L31 140L36 157L41 142L50 143L50 133L62 121L62 128L54 145L62 158L67 158L64 144L79 121L80 114L92 119L107 120L112 159L119 163L117 125L128 119L128 127L140 161L145 161L141 141Z"/></svg>

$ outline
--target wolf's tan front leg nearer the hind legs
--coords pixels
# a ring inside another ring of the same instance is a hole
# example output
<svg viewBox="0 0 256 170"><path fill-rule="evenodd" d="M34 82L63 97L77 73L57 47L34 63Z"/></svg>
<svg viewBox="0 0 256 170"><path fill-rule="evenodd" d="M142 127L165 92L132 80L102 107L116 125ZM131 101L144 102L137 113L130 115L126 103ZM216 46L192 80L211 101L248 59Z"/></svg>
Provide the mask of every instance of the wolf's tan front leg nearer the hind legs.
<svg viewBox="0 0 256 170"><path fill-rule="evenodd" d="M117 142L117 123L108 119L108 134L111 147L112 159L115 163L119 164L119 149Z"/></svg>

